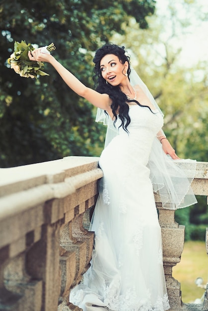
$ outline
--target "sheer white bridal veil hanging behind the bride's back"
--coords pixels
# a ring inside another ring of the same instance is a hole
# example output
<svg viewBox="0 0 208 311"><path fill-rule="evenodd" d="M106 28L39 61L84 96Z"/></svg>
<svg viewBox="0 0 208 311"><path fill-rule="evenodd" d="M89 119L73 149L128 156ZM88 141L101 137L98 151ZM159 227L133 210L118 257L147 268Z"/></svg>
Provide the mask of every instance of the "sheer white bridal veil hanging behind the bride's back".
<svg viewBox="0 0 208 311"><path fill-rule="evenodd" d="M164 114L146 84L133 68L131 68L129 79L132 86L139 85L142 88L155 109L159 111L162 117L164 117ZM118 135L118 129L114 127L113 121L101 108L98 108L97 110L96 122L103 122L104 125L107 125L105 136L106 147L111 140ZM162 128L160 132L161 134L164 134ZM179 167L178 163L180 162L186 163L185 169ZM153 190L160 194L163 208L176 210L197 203L196 197L191 188L191 183L196 174L196 160L173 160L170 156L165 155L161 143L158 138L155 137L148 161L148 167L150 169L150 179L152 181Z"/></svg>

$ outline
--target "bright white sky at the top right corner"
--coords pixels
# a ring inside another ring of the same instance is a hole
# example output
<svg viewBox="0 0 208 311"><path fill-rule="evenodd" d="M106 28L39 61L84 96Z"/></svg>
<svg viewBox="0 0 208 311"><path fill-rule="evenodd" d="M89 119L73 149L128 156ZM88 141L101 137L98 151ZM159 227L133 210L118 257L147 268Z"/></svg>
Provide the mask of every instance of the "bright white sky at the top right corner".
<svg viewBox="0 0 208 311"><path fill-rule="evenodd" d="M179 62L192 66L200 60L208 61L208 0L195 0L195 5L190 4L186 7L183 2L184 0L174 0L174 5L177 5L177 14L181 19L191 20L191 25L187 28L187 33L178 38L177 43L182 47ZM167 14L168 3L169 0L157 0L158 15ZM206 14L207 20L203 21L202 17Z"/></svg>

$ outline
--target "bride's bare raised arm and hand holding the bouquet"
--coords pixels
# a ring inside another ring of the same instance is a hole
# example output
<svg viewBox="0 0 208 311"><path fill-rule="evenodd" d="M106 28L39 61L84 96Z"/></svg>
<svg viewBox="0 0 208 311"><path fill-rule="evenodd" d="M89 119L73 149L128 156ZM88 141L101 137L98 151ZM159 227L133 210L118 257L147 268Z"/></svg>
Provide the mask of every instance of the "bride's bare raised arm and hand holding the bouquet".
<svg viewBox="0 0 208 311"><path fill-rule="evenodd" d="M73 91L75 91L78 95L86 98L94 106L106 110L110 115L112 114L110 108L111 100L107 94L100 94L99 92L87 87L64 66L62 66L52 55L41 53L40 50L41 48L35 49L32 51L32 54L29 52L29 59L31 61L35 60L37 62L50 63Z"/></svg>

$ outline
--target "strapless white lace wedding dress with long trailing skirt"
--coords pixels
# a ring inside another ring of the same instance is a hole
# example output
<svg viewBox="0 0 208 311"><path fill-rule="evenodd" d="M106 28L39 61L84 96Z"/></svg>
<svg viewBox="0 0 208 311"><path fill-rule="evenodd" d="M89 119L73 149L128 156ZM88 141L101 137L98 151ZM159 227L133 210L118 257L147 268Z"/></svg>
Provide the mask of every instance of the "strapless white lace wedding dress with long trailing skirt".
<svg viewBox="0 0 208 311"><path fill-rule="evenodd" d="M132 105L122 127L104 149L104 178L91 231L91 267L70 294L84 311L164 311L170 308L163 271L161 229L147 166L153 140L163 126L158 110ZM116 121L116 128L121 124ZM100 306L100 307L97 307Z"/></svg>

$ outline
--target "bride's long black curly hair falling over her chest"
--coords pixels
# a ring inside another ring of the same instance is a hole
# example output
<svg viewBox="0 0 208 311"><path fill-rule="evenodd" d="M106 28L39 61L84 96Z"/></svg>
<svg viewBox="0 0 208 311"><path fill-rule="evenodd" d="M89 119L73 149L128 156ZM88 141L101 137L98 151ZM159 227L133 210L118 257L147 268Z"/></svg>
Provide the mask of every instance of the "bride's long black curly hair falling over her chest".
<svg viewBox="0 0 208 311"><path fill-rule="evenodd" d="M107 43L107 44L104 44L104 46L102 46L100 49L96 51L95 57L93 59L93 62L95 63L95 68L94 68L95 75L93 79L95 82L96 90L99 93L102 93L102 94L106 93L109 95L110 99L112 100L110 107L112 109L112 113L114 116L114 123L117 120L116 112L119 110L118 117L121 120L121 126L126 132L128 132L127 126L129 125L131 120L128 115L129 106L126 104L126 102L135 101L139 106L142 106L142 105L137 100L128 99L126 95L121 91L119 85L112 86L110 83L106 84L105 79L102 76L100 63L101 63L102 58L107 54L116 55L122 64L124 64L126 61L128 62L128 70L127 70L128 79L129 79L129 75L131 72L130 58L129 56L125 55L124 46L120 47L113 43Z"/></svg>

